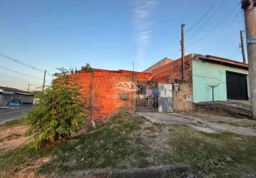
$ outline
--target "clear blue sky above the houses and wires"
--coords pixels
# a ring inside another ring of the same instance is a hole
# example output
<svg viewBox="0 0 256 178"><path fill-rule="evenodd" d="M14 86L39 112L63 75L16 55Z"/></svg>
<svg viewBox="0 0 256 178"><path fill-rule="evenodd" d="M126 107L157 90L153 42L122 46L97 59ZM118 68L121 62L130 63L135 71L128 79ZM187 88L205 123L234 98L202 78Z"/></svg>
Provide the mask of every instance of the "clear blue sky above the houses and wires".
<svg viewBox="0 0 256 178"><path fill-rule="evenodd" d="M211 4L207 16L187 31ZM49 73L86 63L110 70L132 70L134 63L143 70L164 57L179 58L174 52L185 23L186 54L242 61L242 20L239 0L1 0L0 53ZM43 78L2 57L0 66ZM28 83L34 89L42 80L0 68L0 85L26 89Z"/></svg>

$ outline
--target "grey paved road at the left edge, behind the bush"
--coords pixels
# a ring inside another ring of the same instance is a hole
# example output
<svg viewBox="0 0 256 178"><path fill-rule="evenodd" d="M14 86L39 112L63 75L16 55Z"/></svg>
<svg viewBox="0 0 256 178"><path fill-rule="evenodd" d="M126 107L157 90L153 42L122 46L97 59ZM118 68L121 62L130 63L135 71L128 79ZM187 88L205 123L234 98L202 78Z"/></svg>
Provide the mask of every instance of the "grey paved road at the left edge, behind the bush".
<svg viewBox="0 0 256 178"><path fill-rule="evenodd" d="M0 108L0 123L8 120L17 120L26 115L26 112L31 110L32 106L21 108Z"/></svg>

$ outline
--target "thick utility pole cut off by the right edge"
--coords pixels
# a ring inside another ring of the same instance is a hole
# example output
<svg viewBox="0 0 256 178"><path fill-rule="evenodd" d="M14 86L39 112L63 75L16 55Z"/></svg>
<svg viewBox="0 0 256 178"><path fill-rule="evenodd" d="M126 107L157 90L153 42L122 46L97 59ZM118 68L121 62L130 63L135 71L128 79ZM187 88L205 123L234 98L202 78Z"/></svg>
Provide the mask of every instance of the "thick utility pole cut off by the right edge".
<svg viewBox="0 0 256 178"><path fill-rule="evenodd" d="M256 119L256 19L255 0L242 0L245 13L245 29L247 43L247 58L249 64L252 117Z"/></svg>

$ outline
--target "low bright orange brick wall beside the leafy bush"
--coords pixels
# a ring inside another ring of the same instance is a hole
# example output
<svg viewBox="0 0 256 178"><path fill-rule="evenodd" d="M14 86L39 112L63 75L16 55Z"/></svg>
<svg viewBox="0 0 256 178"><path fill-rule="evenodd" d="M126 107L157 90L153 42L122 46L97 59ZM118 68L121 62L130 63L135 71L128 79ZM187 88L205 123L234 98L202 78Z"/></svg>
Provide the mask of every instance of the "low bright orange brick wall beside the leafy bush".
<svg viewBox="0 0 256 178"><path fill-rule="evenodd" d="M134 92L122 90L118 88L118 84L125 83L129 87L132 82L137 83L137 80L147 80L151 74L94 69L93 73L78 73L72 77L78 78L89 115L99 121L107 120L119 110L132 112ZM128 98L122 98L121 95Z"/></svg>

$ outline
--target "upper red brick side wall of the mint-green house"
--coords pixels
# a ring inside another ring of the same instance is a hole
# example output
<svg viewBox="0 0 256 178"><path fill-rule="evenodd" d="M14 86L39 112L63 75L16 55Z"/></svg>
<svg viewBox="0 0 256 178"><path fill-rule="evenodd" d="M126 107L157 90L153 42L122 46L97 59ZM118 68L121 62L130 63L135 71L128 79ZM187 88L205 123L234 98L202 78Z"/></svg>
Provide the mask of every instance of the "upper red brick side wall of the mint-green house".
<svg viewBox="0 0 256 178"><path fill-rule="evenodd" d="M192 80L192 54L184 57L184 79ZM182 79L181 58L167 63L166 65L152 70L155 80L164 83L173 83L175 79Z"/></svg>

